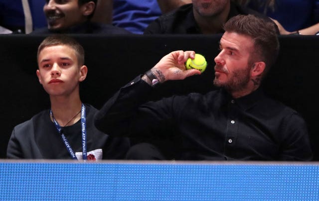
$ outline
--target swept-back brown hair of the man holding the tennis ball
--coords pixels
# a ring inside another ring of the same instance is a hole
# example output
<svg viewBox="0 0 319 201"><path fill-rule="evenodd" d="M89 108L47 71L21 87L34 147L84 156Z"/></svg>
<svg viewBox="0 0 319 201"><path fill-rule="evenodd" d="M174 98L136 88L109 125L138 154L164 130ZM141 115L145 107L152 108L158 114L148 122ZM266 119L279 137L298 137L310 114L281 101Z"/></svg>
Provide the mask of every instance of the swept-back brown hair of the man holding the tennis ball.
<svg viewBox="0 0 319 201"><path fill-rule="evenodd" d="M276 62L279 54L279 29L269 17L236 15L224 24L224 30L247 35L253 39L255 48L250 60L255 57L265 62L265 74Z"/></svg>

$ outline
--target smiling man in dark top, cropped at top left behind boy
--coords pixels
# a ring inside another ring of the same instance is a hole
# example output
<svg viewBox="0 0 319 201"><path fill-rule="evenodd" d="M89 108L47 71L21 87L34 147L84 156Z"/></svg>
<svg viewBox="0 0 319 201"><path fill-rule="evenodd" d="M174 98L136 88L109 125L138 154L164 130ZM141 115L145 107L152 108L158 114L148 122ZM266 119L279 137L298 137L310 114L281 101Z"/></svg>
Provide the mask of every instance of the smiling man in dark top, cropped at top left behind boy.
<svg viewBox="0 0 319 201"><path fill-rule="evenodd" d="M43 11L47 28L34 30L32 34L47 33L104 33L130 34L124 28L110 24L91 22L97 0L46 0Z"/></svg>

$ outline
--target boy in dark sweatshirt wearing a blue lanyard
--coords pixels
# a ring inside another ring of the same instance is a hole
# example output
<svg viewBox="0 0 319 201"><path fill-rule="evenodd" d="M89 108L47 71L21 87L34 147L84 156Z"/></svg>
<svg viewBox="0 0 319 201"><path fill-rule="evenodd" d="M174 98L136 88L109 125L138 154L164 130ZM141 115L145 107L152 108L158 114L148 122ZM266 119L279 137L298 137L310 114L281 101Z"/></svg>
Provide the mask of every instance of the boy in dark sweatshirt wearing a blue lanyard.
<svg viewBox="0 0 319 201"><path fill-rule="evenodd" d="M67 36L52 35L38 48L36 75L50 96L51 108L14 127L7 158L124 159L127 138L97 130L97 109L80 100L79 84L87 76L83 47Z"/></svg>

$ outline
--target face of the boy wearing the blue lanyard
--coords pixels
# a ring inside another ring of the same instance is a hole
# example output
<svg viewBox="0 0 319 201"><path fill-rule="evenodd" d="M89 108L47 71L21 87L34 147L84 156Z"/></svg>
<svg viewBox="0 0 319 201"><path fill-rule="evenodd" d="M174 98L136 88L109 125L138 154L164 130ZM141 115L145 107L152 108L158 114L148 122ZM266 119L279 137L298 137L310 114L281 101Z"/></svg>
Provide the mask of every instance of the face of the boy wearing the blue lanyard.
<svg viewBox="0 0 319 201"><path fill-rule="evenodd" d="M86 66L79 66L75 50L66 45L42 49L38 55L38 67L36 75L50 96L79 93L79 82L87 73Z"/></svg>

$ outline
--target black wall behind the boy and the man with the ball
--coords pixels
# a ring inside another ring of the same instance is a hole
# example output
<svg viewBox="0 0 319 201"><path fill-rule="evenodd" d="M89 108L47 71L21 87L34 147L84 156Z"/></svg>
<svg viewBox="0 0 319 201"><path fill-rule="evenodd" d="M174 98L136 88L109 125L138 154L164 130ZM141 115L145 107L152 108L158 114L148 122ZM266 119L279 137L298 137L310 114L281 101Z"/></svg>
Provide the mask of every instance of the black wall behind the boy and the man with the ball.
<svg viewBox="0 0 319 201"><path fill-rule="evenodd" d="M214 57L221 35L72 35L84 47L87 79L81 84L83 102L100 108L120 87L152 68L174 50L194 50L208 66L200 76L170 81L153 94L154 99L172 94L207 92L213 88ZM13 127L49 108L48 95L38 83L37 47L45 36L0 35L0 158ZM314 160L319 160L319 37L280 36L281 51L265 80L269 95L293 107L308 123Z"/></svg>

